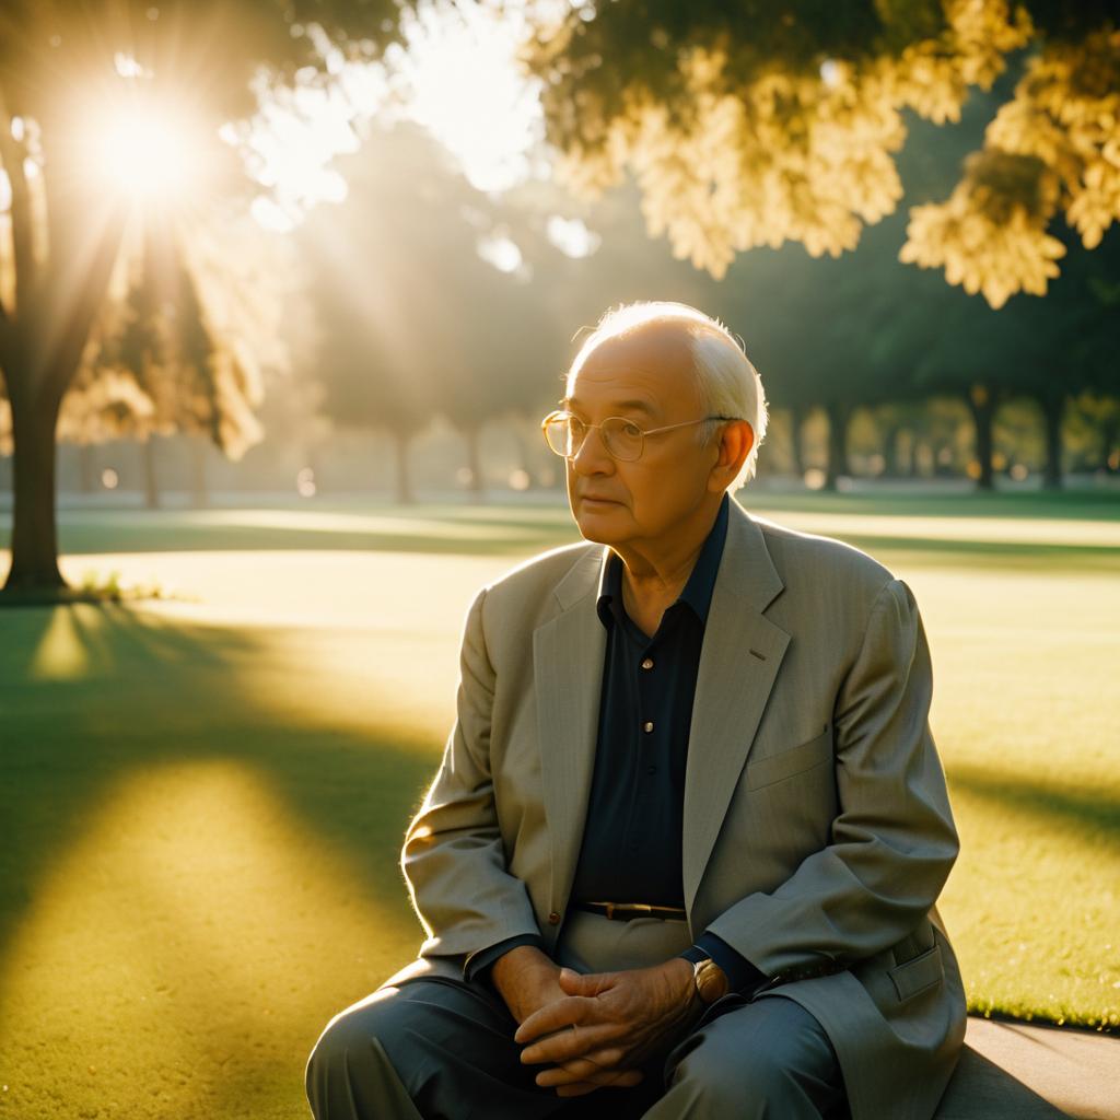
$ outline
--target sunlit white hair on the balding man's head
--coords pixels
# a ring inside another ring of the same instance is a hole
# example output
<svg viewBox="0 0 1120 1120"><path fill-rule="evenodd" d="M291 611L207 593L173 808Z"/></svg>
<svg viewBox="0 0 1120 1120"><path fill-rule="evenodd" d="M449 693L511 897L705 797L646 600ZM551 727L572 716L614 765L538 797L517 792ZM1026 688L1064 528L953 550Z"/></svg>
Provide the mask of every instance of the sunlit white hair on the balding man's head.
<svg viewBox="0 0 1120 1120"><path fill-rule="evenodd" d="M665 300L640 300L613 307L599 319L571 363L567 392L571 394L576 374L599 346L661 324L680 327L691 352L692 372L704 410L712 416L735 417L750 424L755 437L750 452L728 487L729 491L737 491L755 475L758 448L766 435L766 396L762 377L747 357L741 339L737 339L718 319L688 304ZM701 446L711 439L719 424L719 420L709 420L698 426L697 438Z"/></svg>

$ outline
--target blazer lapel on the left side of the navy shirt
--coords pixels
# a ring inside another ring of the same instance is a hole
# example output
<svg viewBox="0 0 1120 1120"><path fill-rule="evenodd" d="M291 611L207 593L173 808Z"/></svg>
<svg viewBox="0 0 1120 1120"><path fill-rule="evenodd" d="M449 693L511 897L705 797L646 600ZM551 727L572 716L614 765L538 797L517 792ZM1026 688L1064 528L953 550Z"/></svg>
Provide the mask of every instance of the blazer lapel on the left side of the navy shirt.
<svg viewBox="0 0 1120 1120"><path fill-rule="evenodd" d="M561 613L533 632L536 731L552 848L550 909L571 892L591 791L606 631L595 609L606 548L589 549L557 585Z"/></svg>

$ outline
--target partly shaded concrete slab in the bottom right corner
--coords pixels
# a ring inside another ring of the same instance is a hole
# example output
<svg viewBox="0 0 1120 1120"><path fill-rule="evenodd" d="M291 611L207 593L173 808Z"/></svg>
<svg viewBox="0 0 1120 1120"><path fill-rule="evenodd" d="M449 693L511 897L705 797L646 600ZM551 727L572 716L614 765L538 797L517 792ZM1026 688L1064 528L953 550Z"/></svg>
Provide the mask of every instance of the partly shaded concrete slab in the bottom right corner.
<svg viewBox="0 0 1120 1120"><path fill-rule="evenodd" d="M1120 1120L1120 1037L969 1016L936 1120Z"/></svg>

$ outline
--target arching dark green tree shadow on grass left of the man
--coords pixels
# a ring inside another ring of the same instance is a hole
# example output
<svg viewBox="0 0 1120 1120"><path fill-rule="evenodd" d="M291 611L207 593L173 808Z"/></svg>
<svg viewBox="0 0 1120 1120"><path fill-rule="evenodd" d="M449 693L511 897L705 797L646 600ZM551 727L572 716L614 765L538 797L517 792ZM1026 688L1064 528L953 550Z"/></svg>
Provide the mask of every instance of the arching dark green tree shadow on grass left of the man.
<svg viewBox="0 0 1120 1120"><path fill-rule="evenodd" d="M50 631L64 617L59 640ZM39 679L29 654L59 641L74 662L58 670L64 679ZM127 607L6 614L0 960L38 886L120 780L176 762L232 762L265 777L399 916L398 935L411 928L419 943L398 858L440 745L376 720L340 726L327 704L321 719L270 708L245 687L250 666L269 656L260 632L165 623ZM302 687L314 689L314 675Z"/></svg>

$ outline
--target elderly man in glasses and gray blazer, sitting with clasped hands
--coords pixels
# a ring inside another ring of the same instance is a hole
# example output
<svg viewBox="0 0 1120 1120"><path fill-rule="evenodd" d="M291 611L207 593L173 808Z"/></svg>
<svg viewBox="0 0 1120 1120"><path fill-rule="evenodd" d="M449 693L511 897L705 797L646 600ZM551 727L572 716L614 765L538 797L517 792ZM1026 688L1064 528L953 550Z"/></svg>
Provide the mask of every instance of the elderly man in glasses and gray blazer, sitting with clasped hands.
<svg viewBox="0 0 1120 1120"><path fill-rule="evenodd" d="M428 936L323 1032L314 1114L927 1120L965 1016L913 595L731 501L766 405L701 312L608 312L560 403L591 543L468 612Z"/></svg>

